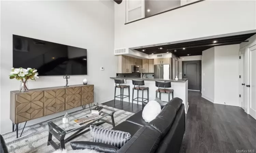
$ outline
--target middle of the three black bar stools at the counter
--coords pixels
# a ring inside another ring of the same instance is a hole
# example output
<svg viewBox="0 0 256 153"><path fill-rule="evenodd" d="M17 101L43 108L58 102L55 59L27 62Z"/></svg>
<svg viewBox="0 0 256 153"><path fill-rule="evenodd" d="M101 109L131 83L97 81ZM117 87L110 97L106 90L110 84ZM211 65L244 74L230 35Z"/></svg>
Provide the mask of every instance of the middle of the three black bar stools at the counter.
<svg viewBox="0 0 256 153"><path fill-rule="evenodd" d="M131 108L133 107L133 100L137 99L137 104L139 104L139 102L142 102L142 109L144 108L143 102L147 100L148 102L148 87L141 87L144 86L144 80L132 80L132 84L134 85L134 87L132 88L132 104L131 104ZM137 85L137 87L135 86ZM134 90L137 90L137 98L133 99L133 95L134 95ZM139 101L139 90L142 90L142 101ZM144 90L147 90L147 98L144 98ZM145 99L145 100L144 100Z"/></svg>

